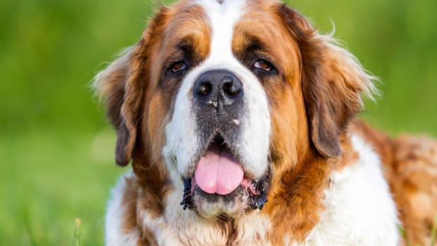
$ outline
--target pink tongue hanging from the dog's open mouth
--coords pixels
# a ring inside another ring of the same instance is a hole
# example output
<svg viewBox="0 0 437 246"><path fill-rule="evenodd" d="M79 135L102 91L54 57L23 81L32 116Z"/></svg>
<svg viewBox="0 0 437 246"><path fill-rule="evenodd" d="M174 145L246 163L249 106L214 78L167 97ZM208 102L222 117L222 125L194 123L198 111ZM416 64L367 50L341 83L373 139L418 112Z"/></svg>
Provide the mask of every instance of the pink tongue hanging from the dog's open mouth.
<svg viewBox="0 0 437 246"><path fill-rule="evenodd" d="M233 156L219 147L211 147L197 164L195 179L204 192L228 195L241 184L243 174Z"/></svg>

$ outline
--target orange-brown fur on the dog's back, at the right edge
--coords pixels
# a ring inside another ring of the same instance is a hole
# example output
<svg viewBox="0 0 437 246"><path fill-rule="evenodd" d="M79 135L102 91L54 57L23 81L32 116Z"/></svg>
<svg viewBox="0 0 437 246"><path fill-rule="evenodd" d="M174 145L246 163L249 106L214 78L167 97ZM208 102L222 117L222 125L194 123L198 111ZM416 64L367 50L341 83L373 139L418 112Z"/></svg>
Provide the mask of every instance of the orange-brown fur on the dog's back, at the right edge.
<svg viewBox="0 0 437 246"><path fill-rule="evenodd" d="M408 242L430 245L437 216L437 141L409 135L392 139L362 122L353 128L381 156Z"/></svg>

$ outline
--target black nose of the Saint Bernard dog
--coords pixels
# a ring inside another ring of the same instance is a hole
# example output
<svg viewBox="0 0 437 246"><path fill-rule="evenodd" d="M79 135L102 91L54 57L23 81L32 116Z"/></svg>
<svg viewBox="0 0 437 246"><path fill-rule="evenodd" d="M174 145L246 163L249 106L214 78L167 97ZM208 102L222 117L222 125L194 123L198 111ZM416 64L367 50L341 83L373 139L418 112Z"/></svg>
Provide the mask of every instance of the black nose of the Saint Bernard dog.
<svg viewBox="0 0 437 246"><path fill-rule="evenodd" d="M209 70L197 79L192 90L197 101L218 106L230 105L242 99L242 83L228 70Z"/></svg>

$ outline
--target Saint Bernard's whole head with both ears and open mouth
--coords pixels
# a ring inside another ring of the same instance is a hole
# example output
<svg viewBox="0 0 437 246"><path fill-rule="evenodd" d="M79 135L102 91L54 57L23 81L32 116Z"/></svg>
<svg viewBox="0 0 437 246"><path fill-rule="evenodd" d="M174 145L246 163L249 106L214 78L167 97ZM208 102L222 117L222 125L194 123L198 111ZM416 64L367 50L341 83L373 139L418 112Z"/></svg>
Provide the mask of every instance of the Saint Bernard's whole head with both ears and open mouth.
<svg viewBox="0 0 437 246"><path fill-rule="evenodd" d="M354 56L276 1L161 7L140 42L97 75L116 162L206 218L261 209L273 180L339 135L373 90Z"/></svg>

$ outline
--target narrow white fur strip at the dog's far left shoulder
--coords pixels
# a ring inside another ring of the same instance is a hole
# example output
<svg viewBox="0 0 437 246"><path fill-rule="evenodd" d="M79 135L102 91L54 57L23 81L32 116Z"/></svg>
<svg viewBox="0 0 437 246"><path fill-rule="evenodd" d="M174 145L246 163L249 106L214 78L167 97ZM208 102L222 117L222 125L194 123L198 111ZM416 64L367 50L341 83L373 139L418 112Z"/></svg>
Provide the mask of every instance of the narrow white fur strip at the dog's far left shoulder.
<svg viewBox="0 0 437 246"><path fill-rule="evenodd" d="M122 207L123 195L125 193L125 179L133 176L130 172L118 179L116 187L111 192L111 199L108 202L105 221L105 245L137 245L137 231L125 233L123 231L123 219L125 218L125 208Z"/></svg>

